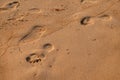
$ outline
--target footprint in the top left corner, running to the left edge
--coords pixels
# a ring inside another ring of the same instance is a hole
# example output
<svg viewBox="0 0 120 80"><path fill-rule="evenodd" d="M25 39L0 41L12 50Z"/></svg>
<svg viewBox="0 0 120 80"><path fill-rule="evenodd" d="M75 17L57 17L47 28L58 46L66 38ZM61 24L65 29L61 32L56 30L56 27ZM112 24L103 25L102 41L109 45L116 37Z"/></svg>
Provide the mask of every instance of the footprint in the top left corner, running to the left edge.
<svg viewBox="0 0 120 80"><path fill-rule="evenodd" d="M16 9L19 6L20 6L20 3L18 1L13 1L13 2L7 3L3 7L1 7L0 12L6 11L6 10L11 10L11 9Z"/></svg>

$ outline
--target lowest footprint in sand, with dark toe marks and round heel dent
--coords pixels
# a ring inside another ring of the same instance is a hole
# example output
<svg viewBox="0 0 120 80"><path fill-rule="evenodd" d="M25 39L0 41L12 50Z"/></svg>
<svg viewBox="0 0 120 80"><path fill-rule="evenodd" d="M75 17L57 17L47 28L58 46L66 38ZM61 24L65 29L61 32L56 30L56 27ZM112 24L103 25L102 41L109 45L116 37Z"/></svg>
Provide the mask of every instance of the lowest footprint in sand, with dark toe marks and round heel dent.
<svg viewBox="0 0 120 80"><path fill-rule="evenodd" d="M40 63L45 59L46 55L54 49L54 46L50 43L46 43L42 47L43 51L31 53L26 57L26 61L30 64Z"/></svg>

